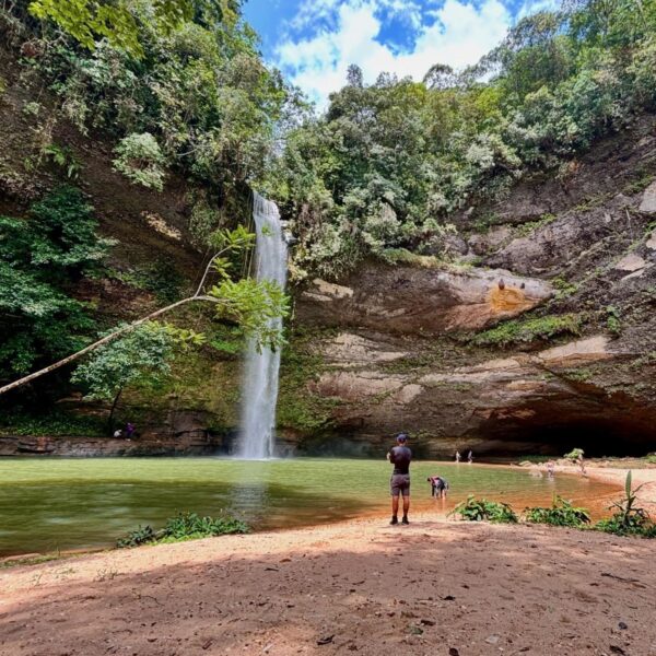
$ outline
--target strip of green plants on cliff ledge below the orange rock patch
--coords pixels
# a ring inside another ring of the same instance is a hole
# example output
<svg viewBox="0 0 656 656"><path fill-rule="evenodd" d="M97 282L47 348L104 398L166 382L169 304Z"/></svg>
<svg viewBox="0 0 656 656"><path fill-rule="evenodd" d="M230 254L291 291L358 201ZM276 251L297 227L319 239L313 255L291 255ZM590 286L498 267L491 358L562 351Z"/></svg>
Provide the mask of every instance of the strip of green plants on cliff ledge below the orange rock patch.
<svg viewBox="0 0 656 656"><path fill-rule="evenodd" d="M507 347L549 340L563 335L579 335L583 316L550 315L531 319L513 319L484 330L471 339L477 345Z"/></svg>

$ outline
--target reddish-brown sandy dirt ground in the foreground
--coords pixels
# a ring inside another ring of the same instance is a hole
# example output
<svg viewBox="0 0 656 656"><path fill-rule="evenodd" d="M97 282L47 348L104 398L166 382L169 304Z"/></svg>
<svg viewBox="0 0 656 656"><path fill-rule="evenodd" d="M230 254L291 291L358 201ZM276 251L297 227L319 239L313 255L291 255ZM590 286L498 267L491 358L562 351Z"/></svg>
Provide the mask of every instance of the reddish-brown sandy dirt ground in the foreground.
<svg viewBox="0 0 656 656"><path fill-rule="evenodd" d="M412 516L0 572L2 656L656 656L654 542Z"/></svg>

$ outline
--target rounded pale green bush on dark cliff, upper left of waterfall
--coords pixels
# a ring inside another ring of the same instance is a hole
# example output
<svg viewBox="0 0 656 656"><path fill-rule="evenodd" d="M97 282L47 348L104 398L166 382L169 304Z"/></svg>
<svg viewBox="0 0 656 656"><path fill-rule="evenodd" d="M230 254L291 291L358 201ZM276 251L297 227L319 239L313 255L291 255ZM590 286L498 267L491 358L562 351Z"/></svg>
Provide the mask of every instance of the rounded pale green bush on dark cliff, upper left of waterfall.
<svg viewBox="0 0 656 656"><path fill-rule="evenodd" d="M165 157L160 144L150 132L128 134L115 149L118 157L114 168L138 185L162 191L165 174L162 166Z"/></svg>

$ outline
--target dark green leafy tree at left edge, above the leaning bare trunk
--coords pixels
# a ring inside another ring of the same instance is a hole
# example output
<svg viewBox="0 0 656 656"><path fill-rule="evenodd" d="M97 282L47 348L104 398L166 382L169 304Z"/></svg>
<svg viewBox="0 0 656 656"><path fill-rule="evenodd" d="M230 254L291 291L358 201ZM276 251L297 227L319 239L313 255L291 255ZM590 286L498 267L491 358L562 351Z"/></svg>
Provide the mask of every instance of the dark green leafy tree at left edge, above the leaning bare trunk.
<svg viewBox="0 0 656 656"><path fill-rule="evenodd" d="M25 219L0 216L0 378L82 348L93 328L84 304L68 294L92 273L112 242L82 194L62 187Z"/></svg>

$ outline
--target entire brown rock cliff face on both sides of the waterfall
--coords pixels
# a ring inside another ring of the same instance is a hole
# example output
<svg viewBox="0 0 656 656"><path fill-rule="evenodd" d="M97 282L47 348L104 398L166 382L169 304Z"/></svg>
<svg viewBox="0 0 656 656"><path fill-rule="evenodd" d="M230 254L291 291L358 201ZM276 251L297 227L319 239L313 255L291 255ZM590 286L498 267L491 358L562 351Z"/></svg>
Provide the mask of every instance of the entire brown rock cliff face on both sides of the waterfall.
<svg viewBox="0 0 656 656"><path fill-rule="evenodd" d="M62 173L25 167L43 147L39 121L24 110L39 81L2 52L0 77L0 212L20 215ZM47 94L42 101L48 109ZM176 179L163 194L137 188L113 171L102 136L83 137L62 118L47 127L48 139L80 162L103 232L118 241L113 273L77 290L101 323L159 306L133 283L148 262L165 262L191 285L203 254L190 246L190 190ZM647 117L561 175L467 208L454 219L452 263L367 262L344 280L294 290L282 446L378 455L405 430L433 456L456 447L655 450L655 179L656 121ZM201 311L179 318L200 330L210 325ZM230 448L238 387L237 359L206 349L176 366L164 389L124 396L140 446L9 436L0 453Z"/></svg>

